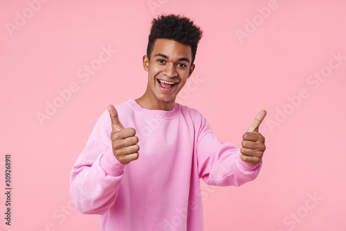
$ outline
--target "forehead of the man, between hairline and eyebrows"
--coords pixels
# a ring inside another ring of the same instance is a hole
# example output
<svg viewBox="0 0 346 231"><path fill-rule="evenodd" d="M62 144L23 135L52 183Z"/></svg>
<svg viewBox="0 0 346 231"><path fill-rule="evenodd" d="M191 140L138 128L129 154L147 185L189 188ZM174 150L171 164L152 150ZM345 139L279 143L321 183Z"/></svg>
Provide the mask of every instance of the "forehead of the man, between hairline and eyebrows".
<svg viewBox="0 0 346 231"><path fill-rule="evenodd" d="M167 57L172 59L179 59L181 57L187 57L190 61L192 59L191 46L181 44L179 41L173 39L156 39L151 55L154 57L158 53L167 55Z"/></svg>

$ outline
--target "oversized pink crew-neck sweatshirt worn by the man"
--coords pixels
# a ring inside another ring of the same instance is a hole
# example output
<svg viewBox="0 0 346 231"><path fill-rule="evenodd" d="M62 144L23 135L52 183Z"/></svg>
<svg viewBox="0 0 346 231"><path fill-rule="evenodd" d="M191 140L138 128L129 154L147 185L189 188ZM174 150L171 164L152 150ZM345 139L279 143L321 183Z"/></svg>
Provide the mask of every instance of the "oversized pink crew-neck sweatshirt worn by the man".
<svg viewBox="0 0 346 231"><path fill-rule="evenodd" d="M133 99L115 107L122 125L136 129L138 160L122 165L113 156L106 110L71 171L72 201L100 215L100 230L203 230L199 178L239 186L260 171L262 162L246 165L195 109L149 110Z"/></svg>

